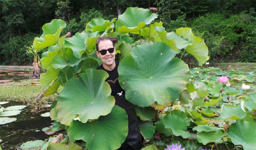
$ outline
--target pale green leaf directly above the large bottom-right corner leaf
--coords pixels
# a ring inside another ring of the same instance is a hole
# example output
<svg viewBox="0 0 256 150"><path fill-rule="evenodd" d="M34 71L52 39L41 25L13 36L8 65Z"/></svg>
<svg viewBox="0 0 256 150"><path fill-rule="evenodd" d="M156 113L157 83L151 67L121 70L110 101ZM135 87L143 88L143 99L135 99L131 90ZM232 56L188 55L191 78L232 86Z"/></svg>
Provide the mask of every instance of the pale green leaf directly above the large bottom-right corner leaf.
<svg viewBox="0 0 256 150"><path fill-rule="evenodd" d="M221 118L222 119L240 119L246 116L246 111L244 110L244 101L241 104L233 107L232 105L222 105Z"/></svg>

